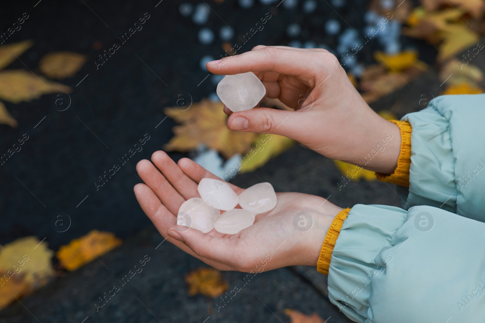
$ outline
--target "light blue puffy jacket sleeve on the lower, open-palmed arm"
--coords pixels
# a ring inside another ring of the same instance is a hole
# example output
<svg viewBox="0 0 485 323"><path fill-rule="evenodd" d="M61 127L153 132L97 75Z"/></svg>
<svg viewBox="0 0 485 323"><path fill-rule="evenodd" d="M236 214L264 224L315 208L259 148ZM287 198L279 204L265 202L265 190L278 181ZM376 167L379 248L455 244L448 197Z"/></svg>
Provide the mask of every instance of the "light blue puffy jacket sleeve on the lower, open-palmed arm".
<svg viewBox="0 0 485 323"><path fill-rule="evenodd" d="M431 206L357 204L333 248L330 301L362 323L484 322L484 232Z"/></svg>

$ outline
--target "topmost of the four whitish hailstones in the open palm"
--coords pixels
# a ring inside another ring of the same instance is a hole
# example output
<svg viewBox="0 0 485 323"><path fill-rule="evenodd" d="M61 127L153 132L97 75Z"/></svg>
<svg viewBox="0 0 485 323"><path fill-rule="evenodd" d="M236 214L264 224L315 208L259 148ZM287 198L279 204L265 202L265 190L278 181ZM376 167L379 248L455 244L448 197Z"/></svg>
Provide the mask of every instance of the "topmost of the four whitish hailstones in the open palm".
<svg viewBox="0 0 485 323"><path fill-rule="evenodd" d="M197 191L204 202L219 210L231 210L239 203L236 192L226 182L203 178Z"/></svg>

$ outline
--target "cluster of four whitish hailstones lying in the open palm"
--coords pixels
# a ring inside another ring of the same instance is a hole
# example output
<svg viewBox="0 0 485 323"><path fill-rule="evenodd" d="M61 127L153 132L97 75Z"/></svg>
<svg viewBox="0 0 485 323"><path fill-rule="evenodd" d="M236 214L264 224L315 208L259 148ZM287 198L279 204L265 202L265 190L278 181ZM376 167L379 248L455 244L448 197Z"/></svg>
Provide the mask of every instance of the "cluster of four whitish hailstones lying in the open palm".
<svg viewBox="0 0 485 323"><path fill-rule="evenodd" d="M251 226L257 214L276 206L276 193L269 183L253 185L237 196L226 182L203 178L197 191L201 198L186 200L180 206L177 225L203 233L212 229L226 234L238 233ZM241 209L235 209L238 204Z"/></svg>

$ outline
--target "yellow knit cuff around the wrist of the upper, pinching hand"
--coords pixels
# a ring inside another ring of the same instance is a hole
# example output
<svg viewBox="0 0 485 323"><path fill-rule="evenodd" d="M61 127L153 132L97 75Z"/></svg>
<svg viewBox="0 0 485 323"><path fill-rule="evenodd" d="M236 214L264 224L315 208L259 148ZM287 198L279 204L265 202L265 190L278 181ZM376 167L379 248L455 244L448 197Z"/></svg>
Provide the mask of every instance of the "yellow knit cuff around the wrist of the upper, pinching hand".
<svg viewBox="0 0 485 323"><path fill-rule="evenodd" d="M405 121L389 120L397 124L401 130L401 152L397 159L397 167L390 175L376 172L382 182L409 187L409 167L411 166L411 124Z"/></svg>

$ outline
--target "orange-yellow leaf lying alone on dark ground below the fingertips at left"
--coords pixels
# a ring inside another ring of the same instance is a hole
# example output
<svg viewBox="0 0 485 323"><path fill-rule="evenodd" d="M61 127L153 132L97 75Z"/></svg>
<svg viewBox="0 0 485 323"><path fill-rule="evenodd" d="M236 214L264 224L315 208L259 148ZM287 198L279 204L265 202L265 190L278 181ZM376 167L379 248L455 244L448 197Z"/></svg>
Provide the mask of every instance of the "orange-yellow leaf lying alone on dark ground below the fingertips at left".
<svg viewBox="0 0 485 323"><path fill-rule="evenodd" d="M68 245L61 246L56 257L61 266L72 271L119 245L121 239L116 238L113 233L93 230L79 239L72 239Z"/></svg>

